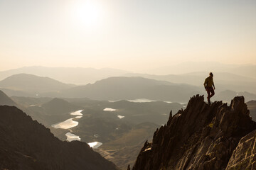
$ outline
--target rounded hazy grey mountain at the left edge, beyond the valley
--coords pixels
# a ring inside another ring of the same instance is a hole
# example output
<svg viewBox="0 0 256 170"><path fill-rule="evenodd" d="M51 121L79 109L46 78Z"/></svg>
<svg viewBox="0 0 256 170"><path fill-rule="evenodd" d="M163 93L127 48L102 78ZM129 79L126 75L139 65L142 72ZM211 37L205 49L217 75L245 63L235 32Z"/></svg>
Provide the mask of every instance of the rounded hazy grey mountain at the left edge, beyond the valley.
<svg viewBox="0 0 256 170"><path fill-rule="evenodd" d="M73 85L61 83L49 77L38 77L32 74L15 74L0 81L0 87L15 91L42 93L68 89L73 87Z"/></svg>

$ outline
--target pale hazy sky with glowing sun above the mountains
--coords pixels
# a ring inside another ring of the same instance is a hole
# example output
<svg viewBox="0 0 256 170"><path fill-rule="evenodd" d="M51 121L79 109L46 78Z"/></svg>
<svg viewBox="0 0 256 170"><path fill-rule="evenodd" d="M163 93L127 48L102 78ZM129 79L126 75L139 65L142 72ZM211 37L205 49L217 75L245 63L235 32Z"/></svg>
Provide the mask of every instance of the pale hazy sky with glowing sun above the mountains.
<svg viewBox="0 0 256 170"><path fill-rule="evenodd" d="M256 64L255 0L0 0L0 70Z"/></svg>

